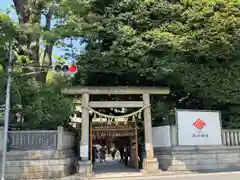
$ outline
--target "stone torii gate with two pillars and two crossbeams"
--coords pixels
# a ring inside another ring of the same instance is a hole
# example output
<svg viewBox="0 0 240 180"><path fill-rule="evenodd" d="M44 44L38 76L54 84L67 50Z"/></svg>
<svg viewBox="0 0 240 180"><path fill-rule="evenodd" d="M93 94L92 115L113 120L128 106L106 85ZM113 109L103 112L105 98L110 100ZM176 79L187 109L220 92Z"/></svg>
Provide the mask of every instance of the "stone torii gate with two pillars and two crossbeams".
<svg viewBox="0 0 240 180"><path fill-rule="evenodd" d="M78 162L79 173L92 174L92 162L89 157L89 108L133 108L145 107L144 113L144 131L145 131L145 150L146 157L143 160L142 170L148 173L159 171L158 160L154 156L152 145L152 117L150 107L150 95L170 93L166 87L101 87L101 86L75 86L62 89L65 95L81 95L82 101L82 128L81 128L81 160ZM142 95L142 101L89 101L90 95Z"/></svg>

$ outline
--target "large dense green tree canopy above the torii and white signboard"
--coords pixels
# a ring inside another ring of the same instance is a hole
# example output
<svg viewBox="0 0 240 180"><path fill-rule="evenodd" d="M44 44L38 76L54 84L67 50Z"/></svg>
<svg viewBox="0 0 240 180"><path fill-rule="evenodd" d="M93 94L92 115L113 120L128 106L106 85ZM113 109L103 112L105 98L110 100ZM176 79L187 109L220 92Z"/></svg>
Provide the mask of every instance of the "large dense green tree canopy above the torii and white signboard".
<svg viewBox="0 0 240 180"><path fill-rule="evenodd" d="M238 0L79 1L62 14L87 43L75 83L168 85L167 114L220 109L224 126L240 127Z"/></svg>

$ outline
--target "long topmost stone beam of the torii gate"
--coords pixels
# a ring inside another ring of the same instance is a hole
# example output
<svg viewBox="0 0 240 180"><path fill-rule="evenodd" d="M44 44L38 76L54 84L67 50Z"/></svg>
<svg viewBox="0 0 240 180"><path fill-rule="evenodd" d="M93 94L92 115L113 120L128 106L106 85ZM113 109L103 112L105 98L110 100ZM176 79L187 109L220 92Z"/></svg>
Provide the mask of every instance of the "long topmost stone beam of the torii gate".
<svg viewBox="0 0 240 180"><path fill-rule="evenodd" d="M89 93L93 95L134 95L134 94L169 94L168 87L137 87L137 86L72 86L62 89L62 93L66 95L78 95Z"/></svg>

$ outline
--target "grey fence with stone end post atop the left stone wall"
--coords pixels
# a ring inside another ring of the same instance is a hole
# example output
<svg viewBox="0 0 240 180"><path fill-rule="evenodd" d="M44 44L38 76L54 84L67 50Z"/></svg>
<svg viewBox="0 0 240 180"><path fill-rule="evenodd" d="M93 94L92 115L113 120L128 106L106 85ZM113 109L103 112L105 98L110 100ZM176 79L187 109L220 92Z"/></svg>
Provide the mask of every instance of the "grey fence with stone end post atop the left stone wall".
<svg viewBox="0 0 240 180"><path fill-rule="evenodd" d="M3 129L0 130L0 148L2 148ZM64 131L63 127L57 130L37 131L9 131L9 150L63 150L72 149L75 135Z"/></svg>

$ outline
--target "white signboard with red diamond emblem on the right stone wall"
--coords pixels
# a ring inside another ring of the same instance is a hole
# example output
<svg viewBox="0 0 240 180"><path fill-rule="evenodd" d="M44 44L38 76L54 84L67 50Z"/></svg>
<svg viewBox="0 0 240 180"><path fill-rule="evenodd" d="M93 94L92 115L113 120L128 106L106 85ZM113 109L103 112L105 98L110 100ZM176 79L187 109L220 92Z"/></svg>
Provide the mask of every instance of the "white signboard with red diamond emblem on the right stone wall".
<svg viewBox="0 0 240 180"><path fill-rule="evenodd" d="M222 145L220 112L177 110L180 146Z"/></svg>

